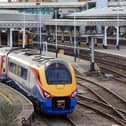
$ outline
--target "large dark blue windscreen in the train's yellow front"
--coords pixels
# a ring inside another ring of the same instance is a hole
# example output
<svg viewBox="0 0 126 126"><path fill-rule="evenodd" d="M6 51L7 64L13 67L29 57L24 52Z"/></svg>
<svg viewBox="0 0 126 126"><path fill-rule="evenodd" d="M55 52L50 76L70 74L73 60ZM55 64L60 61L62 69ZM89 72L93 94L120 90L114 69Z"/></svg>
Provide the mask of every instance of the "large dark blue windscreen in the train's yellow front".
<svg viewBox="0 0 126 126"><path fill-rule="evenodd" d="M46 78L48 84L71 84L72 77L69 69L63 64L52 64L46 69Z"/></svg>

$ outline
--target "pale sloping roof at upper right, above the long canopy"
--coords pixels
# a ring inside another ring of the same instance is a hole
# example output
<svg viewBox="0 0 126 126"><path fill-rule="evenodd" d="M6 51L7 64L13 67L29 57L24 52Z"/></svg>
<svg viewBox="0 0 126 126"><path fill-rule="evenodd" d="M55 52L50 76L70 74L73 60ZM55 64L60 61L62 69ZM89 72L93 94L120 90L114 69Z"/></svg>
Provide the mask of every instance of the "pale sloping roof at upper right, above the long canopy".
<svg viewBox="0 0 126 126"><path fill-rule="evenodd" d="M112 18L116 18L117 16L119 16L119 18L126 18L126 7L105 7L105 8L93 8L93 9L89 9L86 11L82 11L82 12L76 12L76 13L72 13L67 15L68 18L108 18L108 19L112 19Z"/></svg>

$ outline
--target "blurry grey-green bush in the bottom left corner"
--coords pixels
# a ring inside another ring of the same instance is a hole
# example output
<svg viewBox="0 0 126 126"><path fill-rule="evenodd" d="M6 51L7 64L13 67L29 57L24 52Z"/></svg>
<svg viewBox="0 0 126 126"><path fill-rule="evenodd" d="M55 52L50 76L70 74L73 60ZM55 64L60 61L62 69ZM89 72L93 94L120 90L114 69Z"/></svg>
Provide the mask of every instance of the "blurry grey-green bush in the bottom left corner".
<svg viewBox="0 0 126 126"><path fill-rule="evenodd" d="M14 106L7 102L0 102L0 126L17 126L16 117Z"/></svg>

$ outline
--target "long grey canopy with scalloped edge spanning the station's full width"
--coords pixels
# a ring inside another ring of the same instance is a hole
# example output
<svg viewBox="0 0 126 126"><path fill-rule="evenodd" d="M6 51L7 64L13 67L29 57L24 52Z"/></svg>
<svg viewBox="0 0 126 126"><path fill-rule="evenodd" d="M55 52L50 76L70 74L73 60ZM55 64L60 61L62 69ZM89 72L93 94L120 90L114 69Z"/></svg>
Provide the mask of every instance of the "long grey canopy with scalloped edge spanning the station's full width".
<svg viewBox="0 0 126 126"><path fill-rule="evenodd" d="M92 9L91 9L92 10ZM123 12L126 13L126 12ZM125 16L125 15L124 15ZM57 21L57 23L56 23ZM75 21L75 23L74 23ZM119 19L118 25L126 26L126 19ZM117 19L51 19L47 15L41 15L42 25L58 26L116 26ZM22 28L40 27L40 14L26 14L11 10L0 11L0 28Z"/></svg>

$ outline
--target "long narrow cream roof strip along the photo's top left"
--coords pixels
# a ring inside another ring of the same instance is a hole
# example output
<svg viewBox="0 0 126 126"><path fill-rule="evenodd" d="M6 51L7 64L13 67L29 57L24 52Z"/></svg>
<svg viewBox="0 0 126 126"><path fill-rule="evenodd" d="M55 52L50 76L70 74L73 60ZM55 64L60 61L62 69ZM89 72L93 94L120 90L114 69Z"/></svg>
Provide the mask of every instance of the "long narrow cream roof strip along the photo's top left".
<svg viewBox="0 0 126 126"><path fill-rule="evenodd" d="M17 9L17 8L42 8L42 7L53 7L53 8L77 8L83 7L88 1L85 2L14 2L14 3L1 3L1 9Z"/></svg>

